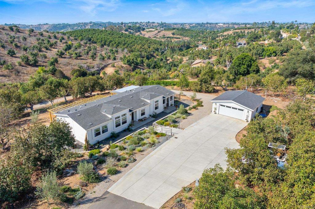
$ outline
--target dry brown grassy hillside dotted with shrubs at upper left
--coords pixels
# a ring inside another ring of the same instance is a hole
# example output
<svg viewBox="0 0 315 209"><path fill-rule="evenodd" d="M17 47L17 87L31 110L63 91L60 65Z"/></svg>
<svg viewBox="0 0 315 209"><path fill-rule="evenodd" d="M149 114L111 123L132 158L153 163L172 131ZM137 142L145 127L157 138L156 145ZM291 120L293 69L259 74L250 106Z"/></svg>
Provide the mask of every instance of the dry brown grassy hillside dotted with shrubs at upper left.
<svg viewBox="0 0 315 209"><path fill-rule="evenodd" d="M50 57L56 56L55 53L57 50L61 50L63 48L63 46L65 45L65 41L66 41L66 36L65 40L63 41L63 43L59 42L59 38L61 35L56 34L57 39L54 39L52 36L52 34L46 33L44 31L43 32L43 37L38 35L38 31L34 31L31 36L28 36L28 31L24 30L24 29L20 29L20 33L14 34L13 31L10 31L8 29L8 27L5 27L5 30L0 30L0 40L3 41L3 43L7 46L6 49L0 48L0 57L3 58L6 63L12 63L14 69L11 71L5 71L2 70L2 68L0 68L0 82L1 83L15 83L15 82L26 82L29 78L30 75L34 74L36 72L36 70L38 69L39 66L47 66L47 61L50 59ZM8 33L10 35L14 35L14 36L25 36L27 38L26 41L22 41L19 39L15 39L15 42L18 43L19 47L15 48L13 45L11 45L8 40L9 37L7 37L5 34ZM40 37L40 38L46 38L47 35L50 35L52 38L50 39L51 42L57 40L57 46L54 46L52 48L49 48L49 50L45 50L42 49L41 52L39 53L45 53L47 54L47 59L43 60L43 62L38 58L38 63L36 66L29 66L26 65L24 63L22 63L21 66L18 66L16 64L17 61L20 61L20 56L23 54L26 54L25 51L23 51L21 49L21 47L23 45L26 46L33 46L34 44L37 43L36 38ZM80 42L79 40L73 40L71 38L71 40L69 40L73 43L73 45L75 45L77 42ZM88 45L84 45L83 41L81 42L81 49L79 49L78 51L82 51L84 48L86 48ZM14 56L9 56L6 54L7 50L9 48L12 48L16 51L16 55ZM96 54L98 56L98 54L102 53L104 55L105 51L107 51L109 48L108 47L104 47L104 48L100 48L99 46L97 46L97 50L96 50ZM81 52L82 54L82 52ZM105 61L101 61L99 62L98 59L96 58L95 61L91 60L89 58L89 56L83 56L79 57L78 59L73 59L73 58L69 58L67 55L64 55L62 58L58 57L58 64L56 64L56 67L60 70L62 70L67 76L71 77L70 72L73 69L76 69L77 66L79 64L87 64L87 65L94 65L99 63L101 67L110 65L112 62L119 62L120 57L123 56L123 52L118 52L118 54L116 55L116 61L112 61L112 60L105 60Z"/></svg>

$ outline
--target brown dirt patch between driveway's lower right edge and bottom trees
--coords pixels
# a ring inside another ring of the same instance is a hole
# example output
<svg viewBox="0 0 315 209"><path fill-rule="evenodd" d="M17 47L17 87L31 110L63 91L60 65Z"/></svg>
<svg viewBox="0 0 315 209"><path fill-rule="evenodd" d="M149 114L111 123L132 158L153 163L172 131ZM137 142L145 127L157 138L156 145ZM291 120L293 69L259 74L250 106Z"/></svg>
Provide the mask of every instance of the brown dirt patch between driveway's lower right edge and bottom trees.
<svg viewBox="0 0 315 209"><path fill-rule="evenodd" d="M193 208L193 195L192 192L195 189L195 184L196 181L192 182L190 185L188 185L187 187L191 187L192 190L188 193L185 193L183 190L180 190L180 192L178 192L176 195L174 195L172 198L170 198L167 202L164 203L164 205L161 207L161 209L171 209L172 206L174 205L174 201L177 198L181 198L182 199L182 203L185 204L185 208L186 209L192 209ZM188 194L188 196L190 197L189 199L183 198L184 194ZM174 207L175 208L175 207Z"/></svg>

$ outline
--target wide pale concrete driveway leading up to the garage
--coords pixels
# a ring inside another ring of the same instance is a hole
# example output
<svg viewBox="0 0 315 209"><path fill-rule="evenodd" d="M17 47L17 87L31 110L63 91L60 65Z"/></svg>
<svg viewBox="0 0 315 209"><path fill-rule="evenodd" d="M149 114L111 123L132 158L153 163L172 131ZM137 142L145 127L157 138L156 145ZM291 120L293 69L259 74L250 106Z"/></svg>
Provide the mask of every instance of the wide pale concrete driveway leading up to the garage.
<svg viewBox="0 0 315 209"><path fill-rule="evenodd" d="M160 208L206 168L226 168L225 147L237 148L235 136L246 122L210 114L193 123L150 153L108 191Z"/></svg>

